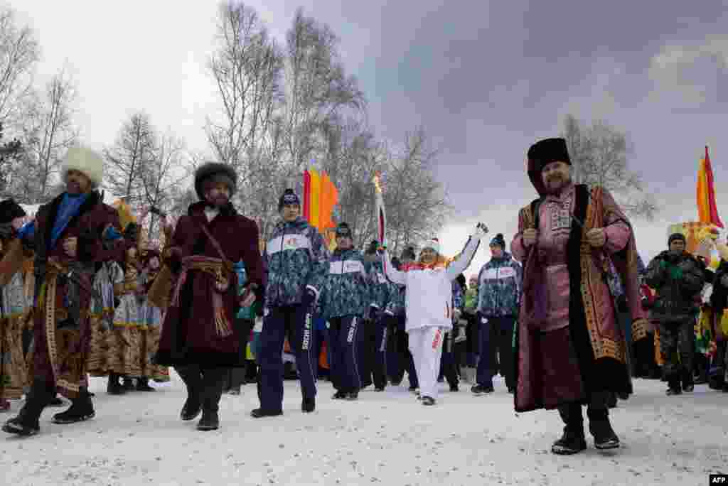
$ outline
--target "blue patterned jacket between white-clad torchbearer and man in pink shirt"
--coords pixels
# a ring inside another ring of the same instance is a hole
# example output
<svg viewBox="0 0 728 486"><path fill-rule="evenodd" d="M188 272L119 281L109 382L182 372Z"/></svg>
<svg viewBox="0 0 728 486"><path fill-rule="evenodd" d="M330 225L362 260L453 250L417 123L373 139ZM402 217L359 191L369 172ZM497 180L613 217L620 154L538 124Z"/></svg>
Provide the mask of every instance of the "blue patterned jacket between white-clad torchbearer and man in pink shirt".
<svg viewBox="0 0 728 486"><path fill-rule="evenodd" d="M491 260L478 274L478 311L486 317L515 317L521 298L523 267L510 253Z"/></svg>

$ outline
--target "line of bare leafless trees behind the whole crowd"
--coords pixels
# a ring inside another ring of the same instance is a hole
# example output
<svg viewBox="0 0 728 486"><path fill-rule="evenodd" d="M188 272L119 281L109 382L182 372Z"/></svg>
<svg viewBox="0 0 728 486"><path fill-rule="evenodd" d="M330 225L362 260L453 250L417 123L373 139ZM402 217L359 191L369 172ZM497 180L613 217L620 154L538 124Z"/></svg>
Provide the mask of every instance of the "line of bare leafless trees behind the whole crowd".
<svg viewBox="0 0 728 486"><path fill-rule="evenodd" d="M361 245L376 234L371 180L379 172L390 247L396 251L438 233L452 210L434 175L438 149L421 126L401 140L377 138L367 122L365 93L347 73L330 26L298 9L279 42L255 9L225 1L211 40L215 50L206 68L220 110L205 120L207 147L190 150L173 130L161 132L140 107L104 149L106 191L124 196L132 207L153 205L181 215L196 199L194 168L223 162L238 173L236 206L256 218L267 236L282 191L293 187L301 194L302 174L314 167L339 189L334 220L347 221ZM60 157L80 138L71 76L61 70L44 87L33 86L39 58L35 33L18 25L12 9L1 9L0 196L27 204L47 202L63 190ZM635 199L641 181L628 177L633 172L625 133L606 124L585 127L569 116L565 136L580 180L603 183L631 198L628 210L651 214L654 204ZM148 217L149 239L157 240L157 217Z"/></svg>

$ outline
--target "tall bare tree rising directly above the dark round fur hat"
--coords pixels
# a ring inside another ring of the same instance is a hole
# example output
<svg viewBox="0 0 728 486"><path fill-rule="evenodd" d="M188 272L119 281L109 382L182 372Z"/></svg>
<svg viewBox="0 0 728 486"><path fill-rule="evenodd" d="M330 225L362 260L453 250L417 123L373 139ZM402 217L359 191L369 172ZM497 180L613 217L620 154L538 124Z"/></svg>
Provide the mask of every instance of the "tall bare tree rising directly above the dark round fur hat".
<svg viewBox="0 0 728 486"><path fill-rule="evenodd" d="M246 159L266 142L282 97L282 52L256 11L237 1L219 7L218 50L208 69L223 105L223 121L207 120L207 140L218 161L232 164L245 180Z"/></svg>

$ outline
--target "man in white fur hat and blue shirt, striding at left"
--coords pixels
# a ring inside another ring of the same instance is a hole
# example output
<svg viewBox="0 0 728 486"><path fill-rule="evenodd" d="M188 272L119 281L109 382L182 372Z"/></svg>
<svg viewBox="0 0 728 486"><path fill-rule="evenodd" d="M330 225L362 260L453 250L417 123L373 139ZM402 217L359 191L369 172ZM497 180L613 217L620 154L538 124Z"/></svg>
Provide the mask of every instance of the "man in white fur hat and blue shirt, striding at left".
<svg viewBox="0 0 728 486"><path fill-rule="evenodd" d="M55 423L95 415L85 370L92 280L100 263L124 258L137 234L130 225L114 247L103 246L103 231L109 225L119 228L119 221L96 190L102 178L99 154L89 148L69 149L63 159L66 192L41 206L35 223L19 234L35 252L34 376L25 405L3 426L10 434L37 434L41 412L56 390L71 399L71 407L54 415Z"/></svg>

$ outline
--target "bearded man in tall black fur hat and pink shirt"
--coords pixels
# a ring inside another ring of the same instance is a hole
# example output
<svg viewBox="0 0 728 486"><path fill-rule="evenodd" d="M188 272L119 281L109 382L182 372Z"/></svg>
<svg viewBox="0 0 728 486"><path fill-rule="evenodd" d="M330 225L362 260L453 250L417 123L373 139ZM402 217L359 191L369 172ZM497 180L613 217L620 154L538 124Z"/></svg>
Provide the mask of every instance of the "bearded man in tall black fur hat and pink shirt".
<svg viewBox="0 0 728 486"><path fill-rule="evenodd" d="M586 446L582 405L600 450L619 447L609 423L611 392L632 392L625 336L604 272L612 260L624 283L633 336L646 335L632 226L606 189L574 185L563 138L531 146L528 172L539 199L518 217L511 250L523 262L516 327L515 410L557 408L566 427L556 454Z"/></svg>

